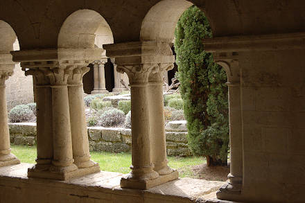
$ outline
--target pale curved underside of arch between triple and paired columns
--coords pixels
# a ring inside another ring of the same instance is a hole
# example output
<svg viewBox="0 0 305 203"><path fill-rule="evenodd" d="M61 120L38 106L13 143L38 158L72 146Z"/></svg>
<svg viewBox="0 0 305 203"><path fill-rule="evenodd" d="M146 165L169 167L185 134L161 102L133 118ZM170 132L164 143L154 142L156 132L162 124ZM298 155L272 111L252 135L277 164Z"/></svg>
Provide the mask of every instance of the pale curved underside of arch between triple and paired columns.
<svg viewBox="0 0 305 203"><path fill-rule="evenodd" d="M114 38L107 21L96 11L82 9L73 12L62 24L58 48L103 48Z"/></svg>

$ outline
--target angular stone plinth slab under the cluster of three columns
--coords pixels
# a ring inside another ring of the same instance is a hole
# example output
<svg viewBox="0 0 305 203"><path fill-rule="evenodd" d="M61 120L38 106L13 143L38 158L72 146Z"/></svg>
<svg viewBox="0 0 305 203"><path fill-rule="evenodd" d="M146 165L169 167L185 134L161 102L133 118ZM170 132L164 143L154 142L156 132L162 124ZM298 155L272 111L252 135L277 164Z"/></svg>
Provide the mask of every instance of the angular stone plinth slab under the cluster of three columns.
<svg viewBox="0 0 305 203"><path fill-rule="evenodd" d="M82 177L92 173L100 172L100 166L95 164L89 168L78 168L70 172L51 172L50 168L46 170L35 170L35 168L28 168L28 177L42 178L42 179L57 179L57 180L69 180L75 177Z"/></svg>

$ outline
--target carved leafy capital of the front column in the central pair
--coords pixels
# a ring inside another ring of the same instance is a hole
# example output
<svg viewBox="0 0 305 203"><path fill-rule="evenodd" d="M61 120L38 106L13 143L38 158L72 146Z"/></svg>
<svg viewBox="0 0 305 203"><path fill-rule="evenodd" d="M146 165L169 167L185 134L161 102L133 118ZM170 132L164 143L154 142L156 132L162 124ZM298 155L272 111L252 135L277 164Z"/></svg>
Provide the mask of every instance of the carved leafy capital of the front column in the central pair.
<svg viewBox="0 0 305 203"><path fill-rule="evenodd" d="M159 64L131 64L116 67L119 73L127 73L130 85L147 83L150 73L157 70L159 70Z"/></svg>

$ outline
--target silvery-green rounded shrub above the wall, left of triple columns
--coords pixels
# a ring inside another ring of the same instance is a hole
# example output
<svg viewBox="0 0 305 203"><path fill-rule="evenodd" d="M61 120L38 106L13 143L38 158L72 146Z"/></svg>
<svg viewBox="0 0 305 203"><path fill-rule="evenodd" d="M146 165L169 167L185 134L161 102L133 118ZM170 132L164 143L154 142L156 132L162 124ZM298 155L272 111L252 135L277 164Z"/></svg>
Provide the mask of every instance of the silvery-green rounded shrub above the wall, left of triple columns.
<svg viewBox="0 0 305 203"><path fill-rule="evenodd" d="M35 118L35 115L27 105L18 105L10 110L8 118L12 123L20 123L30 121L30 119Z"/></svg>

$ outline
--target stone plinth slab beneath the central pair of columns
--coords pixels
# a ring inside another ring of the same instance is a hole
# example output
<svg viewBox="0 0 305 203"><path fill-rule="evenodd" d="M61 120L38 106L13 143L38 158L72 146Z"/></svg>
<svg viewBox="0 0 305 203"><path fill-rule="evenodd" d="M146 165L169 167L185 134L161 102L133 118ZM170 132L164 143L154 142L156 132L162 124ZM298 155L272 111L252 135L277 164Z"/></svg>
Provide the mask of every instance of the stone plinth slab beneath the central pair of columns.
<svg viewBox="0 0 305 203"><path fill-rule="evenodd" d="M140 189L147 190L149 188L153 188L154 186L158 186L160 184L165 184L167 182L171 182L175 179L178 179L179 173L177 170L173 171L168 175L159 175L156 179L131 179L128 178L129 175L121 178L121 188L130 188L130 189Z"/></svg>

